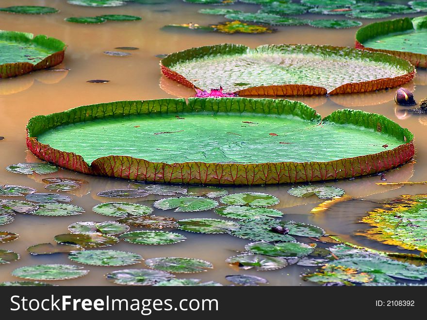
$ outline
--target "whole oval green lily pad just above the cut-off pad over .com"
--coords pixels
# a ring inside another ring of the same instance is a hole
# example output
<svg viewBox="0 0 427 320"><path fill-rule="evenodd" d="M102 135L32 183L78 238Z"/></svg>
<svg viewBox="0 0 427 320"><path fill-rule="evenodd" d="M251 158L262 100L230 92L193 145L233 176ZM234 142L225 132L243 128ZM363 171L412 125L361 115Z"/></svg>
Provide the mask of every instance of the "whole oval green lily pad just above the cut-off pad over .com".
<svg viewBox="0 0 427 320"><path fill-rule="evenodd" d="M195 273L213 269L212 263L193 258L151 258L147 259L145 264L151 269L172 273Z"/></svg>

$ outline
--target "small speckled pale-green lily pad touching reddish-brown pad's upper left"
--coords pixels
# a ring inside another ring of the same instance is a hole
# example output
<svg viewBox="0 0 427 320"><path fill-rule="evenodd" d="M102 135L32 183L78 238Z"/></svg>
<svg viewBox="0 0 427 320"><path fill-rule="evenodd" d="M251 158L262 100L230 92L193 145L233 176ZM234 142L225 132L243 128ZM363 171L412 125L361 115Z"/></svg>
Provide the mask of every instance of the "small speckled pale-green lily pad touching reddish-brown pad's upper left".
<svg viewBox="0 0 427 320"><path fill-rule="evenodd" d="M109 217L147 216L153 209L147 205L128 202L106 202L97 204L92 210Z"/></svg>

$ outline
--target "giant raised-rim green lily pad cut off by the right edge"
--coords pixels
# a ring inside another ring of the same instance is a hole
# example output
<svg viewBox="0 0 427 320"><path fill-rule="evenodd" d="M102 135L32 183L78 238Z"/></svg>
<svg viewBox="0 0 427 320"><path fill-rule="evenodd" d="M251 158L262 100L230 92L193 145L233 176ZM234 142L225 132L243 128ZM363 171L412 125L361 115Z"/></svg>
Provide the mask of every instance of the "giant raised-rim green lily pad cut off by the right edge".
<svg viewBox="0 0 427 320"><path fill-rule="evenodd" d="M393 54L427 67L427 16L368 24L356 33L356 48Z"/></svg>

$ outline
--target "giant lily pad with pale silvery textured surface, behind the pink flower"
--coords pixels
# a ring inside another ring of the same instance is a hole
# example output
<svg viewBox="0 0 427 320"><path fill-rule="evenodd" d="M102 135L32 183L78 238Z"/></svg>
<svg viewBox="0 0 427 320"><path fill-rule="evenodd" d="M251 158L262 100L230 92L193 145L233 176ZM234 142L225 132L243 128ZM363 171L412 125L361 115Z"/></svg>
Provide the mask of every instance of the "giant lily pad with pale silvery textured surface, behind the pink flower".
<svg viewBox="0 0 427 320"><path fill-rule="evenodd" d="M250 49L235 44L172 53L162 59L161 67L166 77L191 88L222 86L225 92L257 96L367 92L406 83L414 70L402 60L350 48L264 45Z"/></svg>

